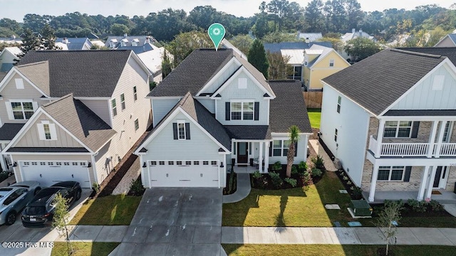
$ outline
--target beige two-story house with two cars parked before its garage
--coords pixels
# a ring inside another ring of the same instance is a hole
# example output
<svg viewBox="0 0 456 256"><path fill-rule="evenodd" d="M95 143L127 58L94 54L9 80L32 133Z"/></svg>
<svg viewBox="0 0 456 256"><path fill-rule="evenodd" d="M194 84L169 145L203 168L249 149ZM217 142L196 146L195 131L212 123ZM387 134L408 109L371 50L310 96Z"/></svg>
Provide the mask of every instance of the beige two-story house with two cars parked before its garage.
<svg viewBox="0 0 456 256"><path fill-rule="evenodd" d="M0 82L2 169L100 183L150 125L149 75L131 50L27 53Z"/></svg>

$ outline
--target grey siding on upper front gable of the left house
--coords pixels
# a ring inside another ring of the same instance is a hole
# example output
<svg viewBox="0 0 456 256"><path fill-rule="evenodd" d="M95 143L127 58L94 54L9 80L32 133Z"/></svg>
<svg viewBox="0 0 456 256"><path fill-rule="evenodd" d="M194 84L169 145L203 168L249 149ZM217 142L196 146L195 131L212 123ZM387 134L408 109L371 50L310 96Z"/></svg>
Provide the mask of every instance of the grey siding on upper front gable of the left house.
<svg viewBox="0 0 456 256"><path fill-rule="evenodd" d="M16 123L16 124L24 124L27 120L25 119L9 119L8 110L6 109L6 102L8 102L9 106L11 106L10 101L15 100L31 100L35 102L36 110L38 107L48 103L47 100L43 100L41 96L41 92L38 92L33 85L30 85L26 80L24 80L20 75L15 73L12 75L11 79L4 85L3 90L1 90L0 95L3 99L0 100L0 121L1 124L4 123ZM17 89L16 88L16 80L21 79L24 82L24 89Z"/></svg>

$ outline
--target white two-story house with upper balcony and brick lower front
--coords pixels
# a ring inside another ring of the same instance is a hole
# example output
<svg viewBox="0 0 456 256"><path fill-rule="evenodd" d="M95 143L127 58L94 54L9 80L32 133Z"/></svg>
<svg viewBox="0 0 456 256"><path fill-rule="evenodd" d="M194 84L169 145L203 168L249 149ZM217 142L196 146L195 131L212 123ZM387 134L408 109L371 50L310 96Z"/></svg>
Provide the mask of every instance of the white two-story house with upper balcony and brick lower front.
<svg viewBox="0 0 456 256"><path fill-rule="evenodd" d="M456 68L436 53L387 49L323 79L321 140L368 201L455 188Z"/></svg>

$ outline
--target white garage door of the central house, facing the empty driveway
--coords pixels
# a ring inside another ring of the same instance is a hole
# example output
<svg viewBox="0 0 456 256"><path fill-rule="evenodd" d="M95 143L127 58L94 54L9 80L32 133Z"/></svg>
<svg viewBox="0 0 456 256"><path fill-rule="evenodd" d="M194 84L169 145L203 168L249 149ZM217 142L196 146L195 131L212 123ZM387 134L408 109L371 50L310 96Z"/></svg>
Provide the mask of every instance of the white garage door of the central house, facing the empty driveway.
<svg viewBox="0 0 456 256"><path fill-rule="evenodd" d="M218 187L219 161L149 161L152 187Z"/></svg>

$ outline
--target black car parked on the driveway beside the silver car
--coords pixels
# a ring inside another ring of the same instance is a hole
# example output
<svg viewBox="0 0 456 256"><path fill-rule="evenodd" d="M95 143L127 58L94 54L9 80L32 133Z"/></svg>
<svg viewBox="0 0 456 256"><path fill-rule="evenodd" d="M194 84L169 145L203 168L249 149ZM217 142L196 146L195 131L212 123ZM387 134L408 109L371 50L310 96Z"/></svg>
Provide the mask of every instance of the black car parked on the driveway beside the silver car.
<svg viewBox="0 0 456 256"><path fill-rule="evenodd" d="M76 181L63 181L43 188L22 212L22 225L26 228L51 225L55 211L54 198L58 193L66 198L68 206L81 198L81 185Z"/></svg>

